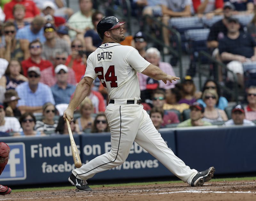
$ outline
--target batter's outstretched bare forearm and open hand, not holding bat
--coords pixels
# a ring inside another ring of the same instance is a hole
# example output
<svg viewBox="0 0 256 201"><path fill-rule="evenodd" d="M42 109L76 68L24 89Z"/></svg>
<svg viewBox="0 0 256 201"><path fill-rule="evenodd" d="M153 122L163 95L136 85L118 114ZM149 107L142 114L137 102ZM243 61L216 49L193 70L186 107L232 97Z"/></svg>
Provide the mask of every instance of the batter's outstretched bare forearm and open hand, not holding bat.
<svg viewBox="0 0 256 201"><path fill-rule="evenodd" d="M157 66L154 66L153 64L149 64L148 67L141 73L149 76L150 78L162 80L164 84L167 83L167 80L172 83L172 80L176 81L177 79L180 79L179 77L167 75L164 71L162 71Z"/></svg>

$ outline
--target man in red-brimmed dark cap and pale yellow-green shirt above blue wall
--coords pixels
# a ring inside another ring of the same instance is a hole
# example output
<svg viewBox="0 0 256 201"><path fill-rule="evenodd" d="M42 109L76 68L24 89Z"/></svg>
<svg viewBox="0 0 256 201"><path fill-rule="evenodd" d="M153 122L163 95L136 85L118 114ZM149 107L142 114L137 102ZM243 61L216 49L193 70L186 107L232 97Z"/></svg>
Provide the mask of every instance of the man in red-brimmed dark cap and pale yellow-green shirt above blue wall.
<svg viewBox="0 0 256 201"><path fill-rule="evenodd" d="M204 106L198 102L194 102L190 107L190 119L181 122L177 127L190 127L190 126L211 126L212 123L203 121Z"/></svg>

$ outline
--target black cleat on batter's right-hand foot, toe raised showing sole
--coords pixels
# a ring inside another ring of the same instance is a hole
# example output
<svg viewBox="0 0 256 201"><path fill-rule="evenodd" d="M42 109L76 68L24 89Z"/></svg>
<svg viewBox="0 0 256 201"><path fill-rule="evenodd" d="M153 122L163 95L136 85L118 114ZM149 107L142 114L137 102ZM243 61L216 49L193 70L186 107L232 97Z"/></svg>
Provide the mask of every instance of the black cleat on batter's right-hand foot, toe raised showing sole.
<svg viewBox="0 0 256 201"><path fill-rule="evenodd" d="M209 182L212 179L214 172L214 167L210 167L207 170L198 172L192 179L191 186L203 186L204 182Z"/></svg>

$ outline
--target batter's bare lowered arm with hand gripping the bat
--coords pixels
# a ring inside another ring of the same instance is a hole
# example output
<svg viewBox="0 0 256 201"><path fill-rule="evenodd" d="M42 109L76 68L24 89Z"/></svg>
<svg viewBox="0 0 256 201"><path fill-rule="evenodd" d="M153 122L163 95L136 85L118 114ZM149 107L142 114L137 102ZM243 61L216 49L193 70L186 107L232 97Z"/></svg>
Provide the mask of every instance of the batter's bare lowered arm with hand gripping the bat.
<svg viewBox="0 0 256 201"><path fill-rule="evenodd" d="M78 105L85 99L88 95L88 92L92 86L93 79L90 77L84 77L76 86L76 90L73 98L70 100L68 104L68 108L63 113L63 118L70 122L73 119L74 110L78 107Z"/></svg>

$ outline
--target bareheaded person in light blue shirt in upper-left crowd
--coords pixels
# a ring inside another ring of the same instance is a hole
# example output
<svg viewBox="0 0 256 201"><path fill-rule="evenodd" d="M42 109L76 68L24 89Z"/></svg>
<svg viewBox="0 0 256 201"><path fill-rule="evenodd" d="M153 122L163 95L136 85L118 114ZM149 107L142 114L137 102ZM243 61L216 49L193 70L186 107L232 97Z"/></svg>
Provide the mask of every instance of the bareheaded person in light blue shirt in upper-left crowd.
<svg viewBox="0 0 256 201"><path fill-rule="evenodd" d="M45 19L42 16L36 16L30 25L24 26L17 31L16 39L27 39L29 42L39 39L41 43L44 43L44 24Z"/></svg>

